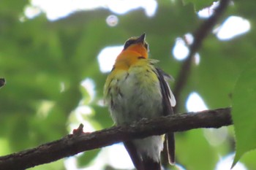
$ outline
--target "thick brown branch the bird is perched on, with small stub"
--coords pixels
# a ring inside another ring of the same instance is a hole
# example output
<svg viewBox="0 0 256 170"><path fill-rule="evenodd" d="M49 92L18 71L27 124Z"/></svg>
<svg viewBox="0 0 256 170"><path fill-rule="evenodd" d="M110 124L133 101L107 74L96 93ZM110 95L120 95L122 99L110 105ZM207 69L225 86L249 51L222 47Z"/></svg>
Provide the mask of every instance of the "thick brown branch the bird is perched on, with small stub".
<svg viewBox="0 0 256 170"><path fill-rule="evenodd" d="M130 139L165 134L168 131L188 131L195 128L219 128L232 125L230 111L230 108L224 108L188 112L154 120L141 120L129 126L112 127L93 133L83 133L83 127L80 126L73 134L64 136L62 139L0 157L0 169L27 169L86 150L94 150Z"/></svg>

